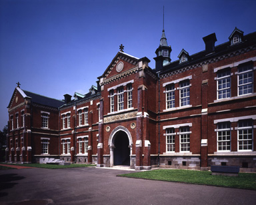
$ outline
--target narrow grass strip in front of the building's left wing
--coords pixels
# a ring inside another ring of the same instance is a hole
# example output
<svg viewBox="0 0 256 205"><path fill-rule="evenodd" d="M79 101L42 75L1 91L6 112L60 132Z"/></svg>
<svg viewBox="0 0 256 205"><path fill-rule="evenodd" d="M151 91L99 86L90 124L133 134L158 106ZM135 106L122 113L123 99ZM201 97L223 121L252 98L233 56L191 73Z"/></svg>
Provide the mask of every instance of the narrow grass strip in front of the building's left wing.
<svg viewBox="0 0 256 205"><path fill-rule="evenodd" d="M5 164L5 163L2 163ZM57 165L57 164L12 164L17 166L29 166L35 168L49 168L49 169L57 169L57 168L78 168L78 167L88 167L95 166L94 164L70 164L70 165ZM1 164L0 164L1 166Z"/></svg>

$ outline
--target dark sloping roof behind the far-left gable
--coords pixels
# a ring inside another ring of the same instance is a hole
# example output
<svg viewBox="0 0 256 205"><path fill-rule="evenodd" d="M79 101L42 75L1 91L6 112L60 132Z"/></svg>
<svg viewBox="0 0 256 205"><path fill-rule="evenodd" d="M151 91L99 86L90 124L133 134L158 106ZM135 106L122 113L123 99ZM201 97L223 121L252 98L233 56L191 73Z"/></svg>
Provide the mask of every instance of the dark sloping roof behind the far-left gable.
<svg viewBox="0 0 256 205"><path fill-rule="evenodd" d="M24 91L24 90L22 90L22 91L25 93L25 95L27 95L27 97L31 98L32 103L42 104L42 105L45 105L45 106L51 106L51 107L54 107L54 108L58 108L59 106L64 104L63 101L59 101L59 100L56 100L56 99L51 99L51 98L45 97L43 95L38 95L38 94L35 94L35 93L31 93L29 91Z"/></svg>

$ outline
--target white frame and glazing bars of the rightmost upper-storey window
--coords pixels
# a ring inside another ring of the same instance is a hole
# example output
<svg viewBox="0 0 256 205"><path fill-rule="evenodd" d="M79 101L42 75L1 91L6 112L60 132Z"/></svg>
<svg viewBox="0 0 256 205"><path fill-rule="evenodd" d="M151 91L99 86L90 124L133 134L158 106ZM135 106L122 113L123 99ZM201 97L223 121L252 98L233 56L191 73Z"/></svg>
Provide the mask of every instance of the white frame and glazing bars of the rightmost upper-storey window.
<svg viewBox="0 0 256 205"><path fill-rule="evenodd" d="M245 69L245 67L247 67L247 69L245 71L241 71L241 69ZM249 75L251 75L251 77L249 77ZM249 79L251 79L251 82L244 83L244 81L248 81ZM251 88L248 88L249 86L251 86ZM243 89L246 87L247 89ZM241 95L239 93L240 88L242 88L242 92L243 92ZM251 89L250 93L248 92L249 89ZM245 93L245 91L247 91L247 93ZM243 96L243 95L249 95L251 93L253 93L253 65L252 64L241 65L238 67L238 72L237 72L237 95Z"/></svg>

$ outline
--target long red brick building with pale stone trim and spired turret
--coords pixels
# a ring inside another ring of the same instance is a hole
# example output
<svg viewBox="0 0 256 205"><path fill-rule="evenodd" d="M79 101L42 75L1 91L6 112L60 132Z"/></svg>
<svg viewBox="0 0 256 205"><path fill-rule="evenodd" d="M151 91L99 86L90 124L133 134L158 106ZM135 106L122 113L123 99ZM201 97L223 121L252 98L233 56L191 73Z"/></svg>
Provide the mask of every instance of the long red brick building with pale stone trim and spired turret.
<svg viewBox="0 0 256 205"><path fill-rule="evenodd" d="M235 28L226 43L215 46L215 33L203 41L205 51L189 55L183 49L171 62L163 30L155 69L147 57L119 51L97 87L72 100L65 95L59 105L36 106L34 96L17 87L8 106L9 160L49 155L137 170L237 165L255 171L256 33ZM49 129L40 124L45 113ZM25 126L13 125L17 114L25 116Z"/></svg>

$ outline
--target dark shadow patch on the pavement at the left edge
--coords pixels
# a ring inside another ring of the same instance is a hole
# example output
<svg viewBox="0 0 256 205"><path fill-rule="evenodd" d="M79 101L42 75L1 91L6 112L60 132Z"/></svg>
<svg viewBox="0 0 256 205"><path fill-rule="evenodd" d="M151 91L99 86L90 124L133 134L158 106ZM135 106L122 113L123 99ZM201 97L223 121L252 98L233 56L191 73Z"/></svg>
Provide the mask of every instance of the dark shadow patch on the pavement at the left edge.
<svg viewBox="0 0 256 205"><path fill-rule="evenodd" d="M3 192L3 190L7 188L13 188L18 183L13 181L22 180L25 178L24 176L18 176L17 174L1 174L0 175L0 197L7 196L7 192Z"/></svg>

